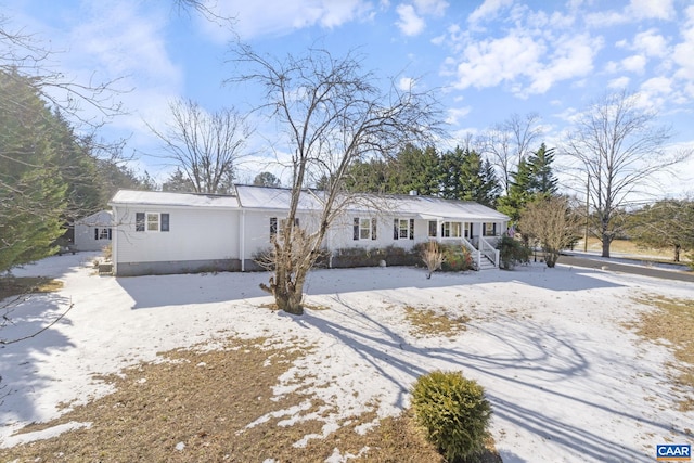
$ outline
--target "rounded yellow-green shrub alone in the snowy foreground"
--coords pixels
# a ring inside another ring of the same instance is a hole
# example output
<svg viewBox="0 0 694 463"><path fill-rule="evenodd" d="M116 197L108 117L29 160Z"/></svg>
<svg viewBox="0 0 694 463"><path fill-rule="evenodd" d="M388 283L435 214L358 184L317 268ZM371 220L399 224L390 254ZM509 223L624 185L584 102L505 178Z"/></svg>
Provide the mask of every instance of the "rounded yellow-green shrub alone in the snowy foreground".
<svg viewBox="0 0 694 463"><path fill-rule="evenodd" d="M460 372L420 376L412 389L412 408L417 424L449 462L465 461L485 450L491 406L475 381Z"/></svg>

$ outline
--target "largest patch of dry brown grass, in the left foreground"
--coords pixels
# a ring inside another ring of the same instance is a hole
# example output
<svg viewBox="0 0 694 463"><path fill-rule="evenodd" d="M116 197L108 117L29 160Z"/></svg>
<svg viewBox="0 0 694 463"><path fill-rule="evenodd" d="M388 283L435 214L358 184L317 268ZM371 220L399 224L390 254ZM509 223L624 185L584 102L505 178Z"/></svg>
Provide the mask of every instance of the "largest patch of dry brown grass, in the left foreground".
<svg viewBox="0 0 694 463"><path fill-rule="evenodd" d="M331 406L305 388L273 397L278 377L311 347L272 345L267 339L229 339L221 350L174 350L162 362L126 369L105 378L116 391L75 407L50 423L23 433L68 422L91 423L59 437L0 449L0 461L17 462L322 462L339 449L369 462L444 462L412 424L409 412L381 421L365 435L356 426L375 419L373 412L352 416L326 438L323 422L309 413ZM300 382L300 378L297 380ZM299 383L297 383L299 384ZM282 423L291 407L305 406L304 420ZM277 415L273 415L275 413ZM259 417L269 419L248 427ZM320 416L320 413L319 413ZM177 450L177 445L182 450ZM493 442L489 443L493 448ZM488 451L486 463L501 459Z"/></svg>

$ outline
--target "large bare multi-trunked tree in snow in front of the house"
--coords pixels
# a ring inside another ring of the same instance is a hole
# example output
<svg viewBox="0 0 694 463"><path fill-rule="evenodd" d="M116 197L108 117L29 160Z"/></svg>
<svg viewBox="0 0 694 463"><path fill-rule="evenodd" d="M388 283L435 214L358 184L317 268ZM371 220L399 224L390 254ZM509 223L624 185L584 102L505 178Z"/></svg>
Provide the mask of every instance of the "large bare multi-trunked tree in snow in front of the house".
<svg viewBox="0 0 694 463"><path fill-rule="evenodd" d="M265 89L266 103L258 111L281 124L285 151L292 153L288 213L272 240L274 274L262 287L281 310L300 314L304 283L323 239L355 198L343 188L350 164L426 140L438 131L440 110L430 93L399 91L393 82L383 92L351 53L336 59L325 50L310 50L280 61L243 44L235 53L235 64L250 70L240 70L230 82L254 81ZM305 189L320 178L327 179L322 191ZM306 195L322 206L314 230L296 224Z"/></svg>

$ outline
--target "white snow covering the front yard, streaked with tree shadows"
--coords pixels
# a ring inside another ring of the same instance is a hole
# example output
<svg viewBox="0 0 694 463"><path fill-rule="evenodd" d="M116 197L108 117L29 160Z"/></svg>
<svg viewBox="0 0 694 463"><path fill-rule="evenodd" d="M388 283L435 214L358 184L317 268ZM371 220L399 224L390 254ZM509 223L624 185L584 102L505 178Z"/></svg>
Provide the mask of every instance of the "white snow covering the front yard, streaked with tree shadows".
<svg viewBox="0 0 694 463"><path fill-rule="evenodd" d="M0 406L0 446L18 442L12 434L21 426L60 415L60 403L107 393L94 374L232 335L318 346L275 393L309 375L316 395L337 406L323 417L325 433L370 407L398 413L414 380L442 369L486 388L505 463L650 462L657 443L694 440L694 413L676 411L668 383L672 352L624 326L651 310L632 297L694 298L692 283L540 263L430 280L411 268L319 270L308 303L327 309L292 317L260 308L271 301L258 288L266 273L115 279L97 275L93 257L56 256L15 272L59 278L64 288L18 306L2 338L74 308L39 336L0 349L0 396L10 393ZM472 320L454 337L416 336L406 306Z"/></svg>

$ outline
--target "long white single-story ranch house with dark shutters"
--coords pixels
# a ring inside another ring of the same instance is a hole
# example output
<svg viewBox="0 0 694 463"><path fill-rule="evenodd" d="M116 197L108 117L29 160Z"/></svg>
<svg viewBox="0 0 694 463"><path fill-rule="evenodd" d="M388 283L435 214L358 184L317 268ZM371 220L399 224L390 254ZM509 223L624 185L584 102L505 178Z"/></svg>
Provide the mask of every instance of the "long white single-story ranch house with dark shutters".
<svg viewBox="0 0 694 463"><path fill-rule="evenodd" d="M283 226L288 189L236 185L235 195L120 190L111 201L117 276L257 270L254 256ZM301 195L297 220L317 227L320 191ZM494 245L509 217L474 202L417 195L360 194L330 228L324 247L410 249L435 240L467 246L477 268L499 266Z"/></svg>

